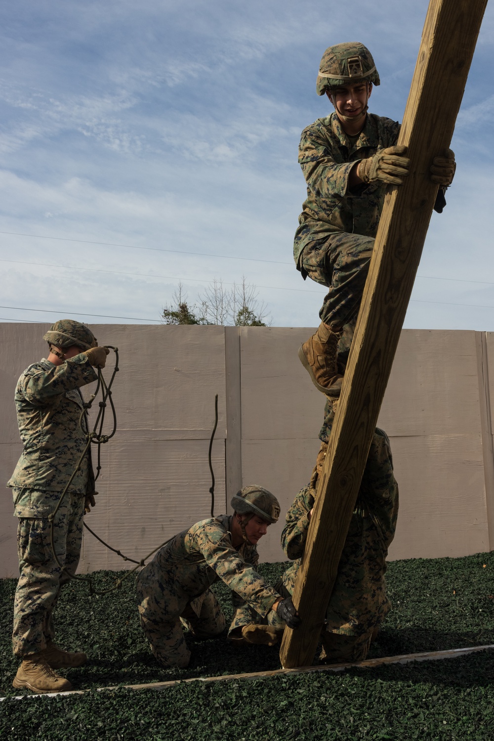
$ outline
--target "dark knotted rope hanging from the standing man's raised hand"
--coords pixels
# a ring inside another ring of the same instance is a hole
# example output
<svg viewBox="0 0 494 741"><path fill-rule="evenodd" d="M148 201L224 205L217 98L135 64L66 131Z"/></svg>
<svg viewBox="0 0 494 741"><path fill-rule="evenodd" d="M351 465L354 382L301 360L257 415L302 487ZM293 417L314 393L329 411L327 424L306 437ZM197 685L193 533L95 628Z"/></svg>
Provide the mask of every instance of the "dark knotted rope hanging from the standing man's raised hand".
<svg viewBox="0 0 494 741"><path fill-rule="evenodd" d="M120 556L121 559L124 559L124 561L130 561L136 564L136 566L130 569L130 571L127 571L127 573L124 576L122 576L120 579L116 579L115 585L113 585L113 587L104 589L102 591L98 591L94 588L93 580L90 579L89 576L79 576L77 574L71 574L70 571L67 571L67 566L60 562L59 556L57 556L56 554L55 517L56 517L57 512L59 511L61 502L63 502L64 496L66 496L67 491L69 491L70 484L73 482L74 476L76 476L76 473L80 471L81 464L84 461L84 456L86 456L87 452L89 451L91 444L98 446L96 476L94 477L94 480L96 483L99 477L99 473L101 471L101 445L104 445L104 443L109 442L109 440L116 433L117 419L116 419L115 406L113 405L111 388L112 388L115 376L119 372L119 348L114 348L112 345L106 345L106 347L109 350L113 350L115 352L115 368L113 368L113 373L110 378L110 382L108 384L104 381L101 368L98 369L98 383L96 385L96 390L94 393L91 394L89 401L83 405L81 414L79 416L79 428L86 436L87 443L84 447L84 451L82 451L81 456L79 457L79 461L76 464L76 468L74 468L73 473L70 476L70 479L65 485L64 491L62 491L61 493L61 496L60 496L59 501L57 502L56 508L53 510L53 513L50 514L48 518L50 521L50 545L51 545L51 550L53 553L53 559L55 559L56 565L59 567L60 571L65 571L69 579L76 579L76 581L78 582L87 582L87 584L89 585L90 594L96 594L98 596L101 596L102 594L109 594L110 592L113 592L116 589L119 589L124 579L127 579L127 577L130 576L130 574L133 574L134 571L137 571L137 569L141 568L141 566L144 566L144 563L147 561L148 558L150 558L150 556L153 556L153 554L156 554L156 551L159 551L160 548L163 548L164 545L167 545L167 543L169 543L170 540L173 540L173 538L175 537L175 535L173 535L171 538L168 538L163 543L160 543L160 545L154 548L153 551L150 552L150 554L147 554L147 556L144 556L144 558L142 558L140 561L136 561L135 559L130 558L130 556L125 556L124 554L121 553L121 551L117 550L116 548L112 548L111 545L108 545L107 542L104 542L104 540L100 538L99 535L96 535L96 533L93 530L91 530L89 525L86 525L86 523L84 522L83 523L84 528L86 528L86 530L88 530L91 535L93 535L97 540L99 540L99 542L102 545L104 545L110 551L113 551L113 553L117 554L117 556ZM103 398L101 402L99 402L99 412L98 412L98 415L96 416L96 422L93 425L93 430L90 431L89 421L87 419L87 411L93 405L93 401L96 399L100 391L102 393ZM105 413L105 409L107 408L108 402L110 402L110 408L111 408L112 416L113 416L113 429L109 435L103 434L104 413ZM210 473L211 473L210 495L211 495L211 516L212 517L214 517L213 511L214 511L215 476L214 476L214 471L213 471L213 464L211 461L211 453L213 450L213 439L216 433L217 426L218 426L218 394L216 394L215 396L215 422L214 422L213 432L211 433L211 437L210 437L210 446L209 446L209 451L208 451L208 462L209 462Z"/></svg>

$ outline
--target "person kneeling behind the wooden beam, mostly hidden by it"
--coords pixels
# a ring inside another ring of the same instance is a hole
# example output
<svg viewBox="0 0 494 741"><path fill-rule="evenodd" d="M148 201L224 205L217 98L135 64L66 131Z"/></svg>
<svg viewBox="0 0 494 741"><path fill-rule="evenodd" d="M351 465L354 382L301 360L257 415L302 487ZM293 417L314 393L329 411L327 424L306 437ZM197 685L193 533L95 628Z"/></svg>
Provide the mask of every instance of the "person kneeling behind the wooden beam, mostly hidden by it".
<svg viewBox="0 0 494 741"><path fill-rule="evenodd" d="M330 411L321 433L329 434L332 419ZM275 585L285 598L291 597L295 588L326 451L324 441L310 482L297 494L287 512L281 547L293 563ZM384 574L397 516L398 484L393 473L390 440L383 430L376 428L321 631L319 659L324 663L363 661L367 657L370 643L391 607ZM253 622L263 624L249 625ZM236 622L236 637L252 643L274 645L283 631L283 622L273 612L267 618L258 619L244 611Z"/></svg>

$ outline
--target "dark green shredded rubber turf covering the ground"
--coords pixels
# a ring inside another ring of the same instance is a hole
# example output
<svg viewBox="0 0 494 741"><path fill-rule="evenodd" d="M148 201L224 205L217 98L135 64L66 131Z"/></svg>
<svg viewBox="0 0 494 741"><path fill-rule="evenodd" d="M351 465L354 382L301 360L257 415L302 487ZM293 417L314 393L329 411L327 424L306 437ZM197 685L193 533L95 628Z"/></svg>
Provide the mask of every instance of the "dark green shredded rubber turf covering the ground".
<svg viewBox="0 0 494 741"><path fill-rule="evenodd" d="M276 582L283 564L259 571ZM494 554L390 563L393 611L369 658L494 644ZM94 574L110 585L114 572ZM29 698L15 690L17 661L10 631L16 582L3 579L0 738L51 740L145 739L195 741L494 738L494 651L461 659L352 669L267 680L176 685L163 692L116 692ZM229 590L215 585L231 615ZM84 650L89 661L60 671L75 689L279 668L276 648L233 647L224 636L187 637L193 660L184 670L156 665L138 625L133 577L119 591L90 597L72 582L57 608L57 642Z"/></svg>

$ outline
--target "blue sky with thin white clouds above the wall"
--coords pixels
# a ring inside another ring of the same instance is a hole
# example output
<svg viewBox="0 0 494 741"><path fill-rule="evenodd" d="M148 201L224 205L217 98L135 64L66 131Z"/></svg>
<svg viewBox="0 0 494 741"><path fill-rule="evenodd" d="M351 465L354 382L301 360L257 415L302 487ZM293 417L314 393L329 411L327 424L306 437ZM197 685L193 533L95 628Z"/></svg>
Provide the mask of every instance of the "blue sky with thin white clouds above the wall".
<svg viewBox="0 0 494 741"><path fill-rule="evenodd" d="M196 302L244 275L273 325L316 325L292 248L321 54L367 44L370 110L401 120L427 4L2 4L0 318L154 323L179 280ZM406 327L494 330L493 31L488 5Z"/></svg>

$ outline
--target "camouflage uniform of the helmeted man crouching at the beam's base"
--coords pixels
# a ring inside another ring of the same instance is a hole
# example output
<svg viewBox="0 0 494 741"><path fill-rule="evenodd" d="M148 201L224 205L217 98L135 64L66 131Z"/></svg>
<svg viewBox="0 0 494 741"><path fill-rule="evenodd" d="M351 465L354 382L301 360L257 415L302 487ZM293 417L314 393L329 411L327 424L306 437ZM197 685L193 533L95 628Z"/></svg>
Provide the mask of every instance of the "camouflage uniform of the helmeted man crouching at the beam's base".
<svg viewBox="0 0 494 741"><path fill-rule="evenodd" d="M196 522L164 545L138 575L141 628L164 666L189 663L181 622L198 638L224 630L224 615L210 590L218 579L232 590L233 628L238 614L250 614L251 608L261 617L273 612L279 594L255 570L256 546L243 542L233 548L231 521L229 515L218 515Z"/></svg>

